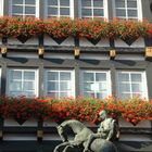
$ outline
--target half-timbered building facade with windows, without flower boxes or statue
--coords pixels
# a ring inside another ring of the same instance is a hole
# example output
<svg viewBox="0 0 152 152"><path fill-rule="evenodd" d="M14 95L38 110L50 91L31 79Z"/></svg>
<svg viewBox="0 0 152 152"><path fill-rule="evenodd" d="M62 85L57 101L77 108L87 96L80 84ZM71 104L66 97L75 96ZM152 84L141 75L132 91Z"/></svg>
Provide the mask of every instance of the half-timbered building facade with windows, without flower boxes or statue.
<svg viewBox="0 0 152 152"><path fill-rule="evenodd" d="M1 16L152 21L152 0L0 0ZM0 93L53 98L93 97L104 99L152 99L152 40L134 42L122 39L48 35L26 41L0 38ZM0 152L51 152L60 138L54 123L29 119L20 125L14 119L0 122ZM116 142L121 152L152 151L152 123L136 127L123 119ZM41 139L41 130L43 137ZM41 141L39 140L41 139Z"/></svg>

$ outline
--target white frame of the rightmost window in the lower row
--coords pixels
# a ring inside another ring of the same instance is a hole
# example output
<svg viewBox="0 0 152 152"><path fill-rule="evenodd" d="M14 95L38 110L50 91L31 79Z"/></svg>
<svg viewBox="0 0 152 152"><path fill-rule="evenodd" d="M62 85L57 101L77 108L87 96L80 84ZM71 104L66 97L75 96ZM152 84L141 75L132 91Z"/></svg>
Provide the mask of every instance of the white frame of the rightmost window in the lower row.
<svg viewBox="0 0 152 152"><path fill-rule="evenodd" d="M116 72L116 96L118 97L118 93L121 92L119 91L119 80L118 80L118 74L122 73L122 74L129 74L129 87L130 87L130 93L131 97L130 98L134 98L132 93L132 89L131 89L131 84L132 81L130 81L130 74L141 74L141 85L142 85L142 94L140 94L141 98L145 98L148 99L148 85L147 85L147 76L145 76L145 72L144 71L117 71ZM127 93L127 92L126 92ZM121 98L121 97L118 97Z"/></svg>

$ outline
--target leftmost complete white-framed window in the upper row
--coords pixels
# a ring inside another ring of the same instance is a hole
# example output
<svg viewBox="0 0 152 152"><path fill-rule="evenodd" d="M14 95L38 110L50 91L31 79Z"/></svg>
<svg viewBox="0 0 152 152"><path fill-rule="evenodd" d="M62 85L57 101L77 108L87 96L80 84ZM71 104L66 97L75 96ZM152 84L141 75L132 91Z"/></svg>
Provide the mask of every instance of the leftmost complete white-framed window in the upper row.
<svg viewBox="0 0 152 152"><path fill-rule="evenodd" d="M10 0L10 15L39 17L39 0Z"/></svg>

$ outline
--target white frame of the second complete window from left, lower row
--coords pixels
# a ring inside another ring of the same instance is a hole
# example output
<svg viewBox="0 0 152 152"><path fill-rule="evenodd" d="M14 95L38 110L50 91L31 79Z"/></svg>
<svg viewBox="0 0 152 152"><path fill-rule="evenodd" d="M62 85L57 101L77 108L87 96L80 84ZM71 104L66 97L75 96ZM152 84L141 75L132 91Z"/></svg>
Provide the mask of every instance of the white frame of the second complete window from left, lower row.
<svg viewBox="0 0 152 152"><path fill-rule="evenodd" d="M46 69L45 71L45 94L46 96L48 96L48 89L47 89L48 88L48 72L58 72L58 73L62 73L62 72L66 73L67 72L67 73L71 73L73 87L72 87L72 94L69 97L75 98L75 71L74 69ZM61 80L59 78L55 81L59 81L59 84L60 84ZM56 92L59 92L58 99L60 99L61 98L60 97L60 93L61 93L60 87L59 87L59 90Z"/></svg>

